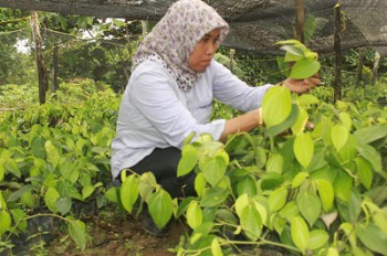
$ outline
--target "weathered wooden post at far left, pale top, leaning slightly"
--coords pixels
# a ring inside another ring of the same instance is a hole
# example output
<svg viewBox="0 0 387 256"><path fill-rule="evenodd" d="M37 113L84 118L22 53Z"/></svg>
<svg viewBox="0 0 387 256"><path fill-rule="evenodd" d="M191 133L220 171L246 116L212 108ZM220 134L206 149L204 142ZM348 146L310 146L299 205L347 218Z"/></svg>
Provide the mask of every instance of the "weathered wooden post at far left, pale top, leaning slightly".
<svg viewBox="0 0 387 256"><path fill-rule="evenodd" d="M43 43L40 36L38 12L31 11L31 30L32 38L35 44L35 56L39 78L39 103L42 105L45 103L45 93L49 88L49 76L43 61Z"/></svg>

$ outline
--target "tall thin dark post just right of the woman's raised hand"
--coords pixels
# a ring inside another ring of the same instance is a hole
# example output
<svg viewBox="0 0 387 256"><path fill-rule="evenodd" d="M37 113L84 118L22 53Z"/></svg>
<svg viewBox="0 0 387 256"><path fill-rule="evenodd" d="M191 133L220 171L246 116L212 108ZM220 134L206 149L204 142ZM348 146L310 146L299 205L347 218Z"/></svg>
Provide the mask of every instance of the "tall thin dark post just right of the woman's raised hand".
<svg viewBox="0 0 387 256"><path fill-rule="evenodd" d="M335 79L333 102L342 98L342 9L339 3L334 8L334 51L335 51Z"/></svg>

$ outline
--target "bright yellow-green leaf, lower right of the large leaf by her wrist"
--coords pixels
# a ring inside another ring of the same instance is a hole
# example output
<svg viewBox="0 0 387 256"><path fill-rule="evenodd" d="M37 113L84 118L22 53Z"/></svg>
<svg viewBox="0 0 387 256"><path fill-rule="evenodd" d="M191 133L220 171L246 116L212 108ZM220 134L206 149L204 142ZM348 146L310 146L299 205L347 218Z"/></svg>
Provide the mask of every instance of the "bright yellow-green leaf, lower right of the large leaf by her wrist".
<svg viewBox="0 0 387 256"><path fill-rule="evenodd" d="M300 134L293 145L295 159L303 168L307 168L314 153L314 143L310 134Z"/></svg>

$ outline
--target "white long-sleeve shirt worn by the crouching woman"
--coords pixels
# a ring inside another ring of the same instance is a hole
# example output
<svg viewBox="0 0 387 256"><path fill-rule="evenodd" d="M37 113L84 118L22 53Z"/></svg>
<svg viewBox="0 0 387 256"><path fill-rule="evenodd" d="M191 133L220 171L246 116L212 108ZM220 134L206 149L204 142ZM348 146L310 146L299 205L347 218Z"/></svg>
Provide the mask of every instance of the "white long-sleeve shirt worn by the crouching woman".
<svg viewBox="0 0 387 256"><path fill-rule="evenodd" d="M112 142L112 174L130 168L155 148L182 148L191 132L219 140L224 119L210 121L213 98L242 111L261 106L271 85L250 87L212 61L191 89L184 92L163 64L145 61L130 76L118 111Z"/></svg>

